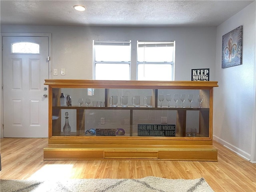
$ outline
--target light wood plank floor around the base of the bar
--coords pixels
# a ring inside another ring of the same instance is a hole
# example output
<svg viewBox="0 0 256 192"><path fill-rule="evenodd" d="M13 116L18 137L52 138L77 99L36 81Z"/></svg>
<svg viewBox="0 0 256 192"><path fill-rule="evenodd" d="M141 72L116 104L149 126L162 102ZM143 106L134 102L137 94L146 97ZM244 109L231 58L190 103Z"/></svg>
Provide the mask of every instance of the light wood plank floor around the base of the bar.
<svg viewBox="0 0 256 192"><path fill-rule="evenodd" d="M43 161L46 138L2 138L1 179L204 178L215 192L256 192L256 164L214 142L218 162L160 160Z"/></svg>

